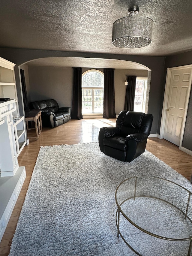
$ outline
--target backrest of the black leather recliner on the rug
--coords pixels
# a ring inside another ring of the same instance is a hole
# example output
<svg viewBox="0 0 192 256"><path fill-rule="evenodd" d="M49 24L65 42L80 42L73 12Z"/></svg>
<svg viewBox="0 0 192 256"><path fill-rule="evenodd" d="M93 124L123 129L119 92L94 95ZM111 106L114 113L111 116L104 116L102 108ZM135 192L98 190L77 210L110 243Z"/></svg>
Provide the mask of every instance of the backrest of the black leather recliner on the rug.
<svg viewBox="0 0 192 256"><path fill-rule="evenodd" d="M153 121L152 114L135 111L121 111L117 117L116 127L121 134L145 133L149 136Z"/></svg>

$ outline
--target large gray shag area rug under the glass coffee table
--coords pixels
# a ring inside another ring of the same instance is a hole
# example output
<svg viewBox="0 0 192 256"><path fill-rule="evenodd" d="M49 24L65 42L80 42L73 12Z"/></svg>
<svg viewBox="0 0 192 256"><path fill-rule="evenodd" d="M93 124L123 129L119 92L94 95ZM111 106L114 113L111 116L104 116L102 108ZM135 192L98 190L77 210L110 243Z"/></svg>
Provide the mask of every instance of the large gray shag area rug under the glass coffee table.
<svg viewBox="0 0 192 256"><path fill-rule="evenodd" d="M9 255L136 255L117 238L115 192L123 180L138 175L162 177L192 191L190 181L147 150L128 163L104 155L98 143L41 147ZM177 206L186 208L188 197L182 189L166 182L150 183L146 188L148 182L138 182L138 191L173 197ZM118 200L131 187L125 185ZM177 237L177 232L182 238L192 235L191 223L162 201L139 197L126 203L122 207L130 218L151 232L168 237ZM192 218L190 212L191 203ZM187 255L189 241L149 236L123 216L120 230L142 255Z"/></svg>

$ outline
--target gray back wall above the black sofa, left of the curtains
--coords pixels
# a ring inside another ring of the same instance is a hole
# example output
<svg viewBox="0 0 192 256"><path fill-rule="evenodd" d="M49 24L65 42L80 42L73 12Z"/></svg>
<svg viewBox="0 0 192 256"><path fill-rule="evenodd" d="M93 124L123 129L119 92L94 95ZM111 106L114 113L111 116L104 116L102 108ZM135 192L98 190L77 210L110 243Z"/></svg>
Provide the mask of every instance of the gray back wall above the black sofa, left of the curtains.
<svg viewBox="0 0 192 256"><path fill-rule="evenodd" d="M31 101L55 99L59 107L72 107L73 69L29 66Z"/></svg>

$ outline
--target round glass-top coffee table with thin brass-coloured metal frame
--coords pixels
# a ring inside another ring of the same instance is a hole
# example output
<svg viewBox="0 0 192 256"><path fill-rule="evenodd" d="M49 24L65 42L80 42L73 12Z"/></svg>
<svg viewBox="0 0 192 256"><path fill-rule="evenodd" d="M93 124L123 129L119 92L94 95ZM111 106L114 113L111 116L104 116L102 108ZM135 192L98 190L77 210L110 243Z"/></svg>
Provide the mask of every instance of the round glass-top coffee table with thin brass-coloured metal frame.
<svg viewBox="0 0 192 256"><path fill-rule="evenodd" d="M150 252L153 250L154 241L150 240L158 239L158 248L163 240L162 247L167 246L170 251L170 254L162 252L161 255L181 255L175 253L172 244L175 246L176 243L177 250L182 242L182 255L189 256L192 247L191 194L181 185L155 176L134 176L124 180L115 194L117 236L120 235L137 255L143 255L142 239L147 255L150 255L148 248ZM172 244L168 244L170 242Z"/></svg>

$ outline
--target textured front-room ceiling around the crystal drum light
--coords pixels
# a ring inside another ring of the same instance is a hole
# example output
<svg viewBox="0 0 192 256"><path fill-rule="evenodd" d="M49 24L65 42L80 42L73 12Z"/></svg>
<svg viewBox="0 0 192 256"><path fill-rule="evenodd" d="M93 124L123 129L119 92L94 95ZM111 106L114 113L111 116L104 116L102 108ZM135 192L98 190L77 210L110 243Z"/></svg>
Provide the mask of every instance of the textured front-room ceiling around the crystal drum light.
<svg viewBox="0 0 192 256"><path fill-rule="evenodd" d="M113 22L139 15L154 21L152 44L112 45ZM166 56L192 50L192 0L1 0L0 47Z"/></svg>

